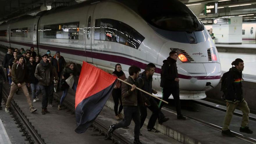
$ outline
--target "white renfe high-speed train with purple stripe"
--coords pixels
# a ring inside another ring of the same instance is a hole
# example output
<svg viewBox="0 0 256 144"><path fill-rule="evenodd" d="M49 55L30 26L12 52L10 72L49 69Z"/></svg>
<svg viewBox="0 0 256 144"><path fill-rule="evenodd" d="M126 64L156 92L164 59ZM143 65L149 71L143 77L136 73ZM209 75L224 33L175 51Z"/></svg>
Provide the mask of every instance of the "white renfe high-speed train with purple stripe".
<svg viewBox="0 0 256 144"><path fill-rule="evenodd" d="M207 29L177 0L86 1L9 21L0 33L1 45L33 46L40 54L60 51L67 61L87 61L107 72L120 63L127 76L131 65L144 69L154 63L152 86L158 97L161 66L173 50L178 54L180 99L205 98L205 91L221 79L218 52Z"/></svg>

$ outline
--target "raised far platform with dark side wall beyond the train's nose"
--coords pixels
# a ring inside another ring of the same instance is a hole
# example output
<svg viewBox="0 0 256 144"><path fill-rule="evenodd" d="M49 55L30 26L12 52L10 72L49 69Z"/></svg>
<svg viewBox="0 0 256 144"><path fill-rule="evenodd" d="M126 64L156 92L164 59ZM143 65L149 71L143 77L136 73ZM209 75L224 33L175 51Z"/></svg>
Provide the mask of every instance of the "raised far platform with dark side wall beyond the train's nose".
<svg viewBox="0 0 256 144"><path fill-rule="evenodd" d="M230 52L230 53L245 53L256 54L255 43L242 43L242 44L215 44L218 52Z"/></svg>

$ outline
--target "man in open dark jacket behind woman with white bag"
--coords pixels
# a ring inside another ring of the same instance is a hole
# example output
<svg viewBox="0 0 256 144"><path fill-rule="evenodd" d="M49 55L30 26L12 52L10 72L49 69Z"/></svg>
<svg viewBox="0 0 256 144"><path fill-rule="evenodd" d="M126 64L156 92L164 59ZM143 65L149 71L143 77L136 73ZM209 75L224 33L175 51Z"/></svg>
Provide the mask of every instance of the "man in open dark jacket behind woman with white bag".
<svg viewBox="0 0 256 144"><path fill-rule="evenodd" d="M51 63L55 67L55 69L58 73L58 78L61 79L61 74L62 74L62 71L63 71L65 65L66 65L66 61L63 58L63 56L60 55L60 51L56 51L55 56L53 56L51 58ZM58 89L58 86L54 87L55 93L57 92L57 89Z"/></svg>

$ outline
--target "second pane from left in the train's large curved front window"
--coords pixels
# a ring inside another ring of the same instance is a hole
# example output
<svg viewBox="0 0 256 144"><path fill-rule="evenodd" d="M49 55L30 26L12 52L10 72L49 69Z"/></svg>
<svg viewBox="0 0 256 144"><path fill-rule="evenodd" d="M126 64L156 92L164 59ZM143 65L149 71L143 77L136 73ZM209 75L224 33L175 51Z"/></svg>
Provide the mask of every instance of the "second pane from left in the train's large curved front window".
<svg viewBox="0 0 256 144"><path fill-rule="evenodd" d="M102 40L119 42L120 37L120 23L113 19L102 19L101 21Z"/></svg>

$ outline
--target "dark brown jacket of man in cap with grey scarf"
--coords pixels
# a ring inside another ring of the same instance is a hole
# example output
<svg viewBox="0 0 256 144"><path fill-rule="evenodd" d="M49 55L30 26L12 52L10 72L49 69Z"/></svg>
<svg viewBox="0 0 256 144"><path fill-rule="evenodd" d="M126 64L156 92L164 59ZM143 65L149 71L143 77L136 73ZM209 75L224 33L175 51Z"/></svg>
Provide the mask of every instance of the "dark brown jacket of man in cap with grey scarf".
<svg viewBox="0 0 256 144"><path fill-rule="evenodd" d="M49 61L41 61L35 68L35 78L38 79L39 85L49 86L53 84L54 79L58 80L58 74Z"/></svg>

